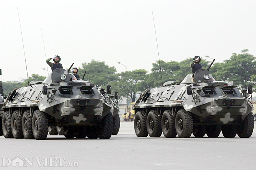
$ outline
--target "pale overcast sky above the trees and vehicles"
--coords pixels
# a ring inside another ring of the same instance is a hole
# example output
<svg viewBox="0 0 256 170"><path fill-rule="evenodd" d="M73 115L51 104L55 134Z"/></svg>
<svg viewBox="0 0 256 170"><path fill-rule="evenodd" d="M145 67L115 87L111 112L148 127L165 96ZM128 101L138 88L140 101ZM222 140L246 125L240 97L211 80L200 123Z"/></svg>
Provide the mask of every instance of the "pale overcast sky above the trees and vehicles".
<svg viewBox="0 0 256 170"><path fill-rule="evenodd" d="M255 0L0 0L0 81L26 77L17 6L29 76L47 76L45 58L54 55L63 68L94 59L119 73L126 68L117 62L150 72L158 60L151 8L161 60L256 56Z"/></svg>

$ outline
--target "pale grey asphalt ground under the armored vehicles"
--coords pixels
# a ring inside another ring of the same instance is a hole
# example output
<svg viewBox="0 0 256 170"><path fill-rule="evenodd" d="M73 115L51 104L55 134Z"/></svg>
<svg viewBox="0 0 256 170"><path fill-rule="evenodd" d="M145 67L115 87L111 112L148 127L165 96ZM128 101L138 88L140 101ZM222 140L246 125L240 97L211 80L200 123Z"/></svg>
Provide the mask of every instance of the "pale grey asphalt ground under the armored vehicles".
<svg viewBox="0 0 256 170"><path fill-rule="evenodd" d="M119 133L105 140L66 139L61 135L48 135L46 140L0 136L0 169L251 170L256 167L256 128L246 139L237 135L224 138L222 134L218 138L180 139L163 135L139 138L133 123L121 122ZM23 162L15 164L20 160Z"/></svg>

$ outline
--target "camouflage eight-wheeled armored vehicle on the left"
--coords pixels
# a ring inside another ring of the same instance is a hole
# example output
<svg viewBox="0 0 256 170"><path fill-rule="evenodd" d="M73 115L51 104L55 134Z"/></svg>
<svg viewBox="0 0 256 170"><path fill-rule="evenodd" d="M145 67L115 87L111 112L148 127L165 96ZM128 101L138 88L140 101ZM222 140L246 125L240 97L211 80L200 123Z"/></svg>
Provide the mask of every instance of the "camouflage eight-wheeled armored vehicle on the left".
<svg viewBox="0 0 256 170"><path fill-rule="evenodd" d="M48 126L60 126L67 138L109 139L117 131L113 119L119 117L118 93L115 100L110 95L111 86L107 92L98 90L57 68L43 82L30 82L9 94L1 115L4 137L46 139Z"/></svg>

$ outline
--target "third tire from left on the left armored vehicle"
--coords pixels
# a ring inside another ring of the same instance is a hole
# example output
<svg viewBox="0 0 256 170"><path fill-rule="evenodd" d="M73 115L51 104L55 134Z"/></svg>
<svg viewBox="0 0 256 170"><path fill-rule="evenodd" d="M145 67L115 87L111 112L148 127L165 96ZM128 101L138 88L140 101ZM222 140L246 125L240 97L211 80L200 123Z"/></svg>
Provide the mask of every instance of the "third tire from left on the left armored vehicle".
<svg viewBox="0 0 256 170"><path fill-rule="evenodd" d="M22 132L25 139L35 139L32 130L32 115L30 110L27 110L22 115Z"/></svg>

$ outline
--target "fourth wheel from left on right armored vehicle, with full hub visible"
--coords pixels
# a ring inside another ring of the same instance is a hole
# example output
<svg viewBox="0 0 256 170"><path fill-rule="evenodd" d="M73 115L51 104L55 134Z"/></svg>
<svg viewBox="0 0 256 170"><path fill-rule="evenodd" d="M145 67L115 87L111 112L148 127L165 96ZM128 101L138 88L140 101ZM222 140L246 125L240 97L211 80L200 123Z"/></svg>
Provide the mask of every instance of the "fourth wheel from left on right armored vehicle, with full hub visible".
<svg viewBox="0 0 256 170"><path fill-rule="evenodd" d="M189 138L193 131L193 119L190 112L181 109L175 118L175 129L180 138Z"/></svg>

